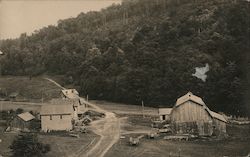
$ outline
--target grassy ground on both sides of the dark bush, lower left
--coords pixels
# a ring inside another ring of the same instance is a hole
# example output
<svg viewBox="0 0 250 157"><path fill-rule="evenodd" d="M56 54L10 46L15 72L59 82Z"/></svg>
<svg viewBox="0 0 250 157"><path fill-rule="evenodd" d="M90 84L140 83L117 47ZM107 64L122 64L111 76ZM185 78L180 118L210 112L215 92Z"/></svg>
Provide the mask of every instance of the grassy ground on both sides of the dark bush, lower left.
<svg viewBox="0 0 250 157"><path fill-rule="evenodd" d="M0 155L10 156L9 146L14 140L17 133L3 133L3 128L0 127ZM68 157L74 153L78 153L79 150L85 152L88 145L95 144L99 136L92 132L81 134L80 138L63 136L63 135L43 135L40 134L39 141L51 146L51 151L48 152L45 157Z"/></svg>

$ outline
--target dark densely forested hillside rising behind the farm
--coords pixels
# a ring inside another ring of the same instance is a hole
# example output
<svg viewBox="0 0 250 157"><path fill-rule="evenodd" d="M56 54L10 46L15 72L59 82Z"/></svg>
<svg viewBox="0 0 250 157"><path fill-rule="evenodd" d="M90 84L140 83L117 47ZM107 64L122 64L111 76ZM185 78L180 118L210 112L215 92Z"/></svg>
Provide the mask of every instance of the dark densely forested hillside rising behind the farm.
<svg viewBox="0 0 250 157"><path fill-rule="evenodd" d="M0 59L3 75L63 74L91 99L172 106L192 91L246 115L249 40L246 1L125 0L3 40ZM204 82L192 74L206 63Z"/></svg>

